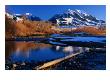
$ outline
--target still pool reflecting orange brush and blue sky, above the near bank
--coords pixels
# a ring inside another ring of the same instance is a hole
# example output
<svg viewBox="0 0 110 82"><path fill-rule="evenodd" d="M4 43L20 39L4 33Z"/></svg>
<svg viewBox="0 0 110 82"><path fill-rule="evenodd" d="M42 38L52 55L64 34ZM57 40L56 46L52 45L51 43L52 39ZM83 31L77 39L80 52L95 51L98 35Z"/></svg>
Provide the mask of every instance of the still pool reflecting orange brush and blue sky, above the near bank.
<svg viewBox="0 0 110 82"><path fill-rule="evenodd" d="M39 62L65 57L77 52L88 51L86 47L61 47L35 42L6 42L6 60L11 62Z"/></svg>

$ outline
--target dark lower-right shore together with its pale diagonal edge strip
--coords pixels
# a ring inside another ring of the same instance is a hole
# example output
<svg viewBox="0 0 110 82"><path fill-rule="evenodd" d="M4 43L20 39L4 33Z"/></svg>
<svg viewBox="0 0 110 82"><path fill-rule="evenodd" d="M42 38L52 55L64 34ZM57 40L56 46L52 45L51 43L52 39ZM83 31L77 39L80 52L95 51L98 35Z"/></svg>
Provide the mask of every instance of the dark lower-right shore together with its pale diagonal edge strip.
<svg viewBox="0 0 110 82"><path fill-rule="evenodd" d="M94 54L95 55L99 55L99 53L101 52L84 52L84 53L80 53L80 54L76 54L76 55L71 55L68 56L68 58L62 60L62 59L57 59L57 60L53 60L50 62L45 63L44 65L40 66L39 68L37 68L36 70L105 70L106 66L105 60L100 60L96 58L91 58L91 56ZM82 55L81 55L82 54ZM104 58L106 58L106 52L102 52L100 55L102 55ZM75 57L74 57L75 56ZM85 58L83 61L82 59ZM92 59L92 62L87 62L87 59L90 58ZM98 64L99 66L102 65L102 68L98 69L98 67L96 66L97 62L100 62L100 64ZM85 63L85 64L84 64ZM84 64L84 65L83 65ZM86 68L86 65L90 65L90 68ZM92 65L92 67L91 67ZM75 68L74 68L75 66ZM84 66L84 67L83 67Z"/></svg>

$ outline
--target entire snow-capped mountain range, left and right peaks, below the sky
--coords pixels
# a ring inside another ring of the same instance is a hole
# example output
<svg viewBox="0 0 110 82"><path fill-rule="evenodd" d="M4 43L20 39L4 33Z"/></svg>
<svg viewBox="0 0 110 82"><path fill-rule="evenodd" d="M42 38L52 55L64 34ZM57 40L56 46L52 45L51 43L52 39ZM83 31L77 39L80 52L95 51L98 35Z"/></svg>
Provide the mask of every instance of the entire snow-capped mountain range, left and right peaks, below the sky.
<svg viewBox="0 0 110 82"><path fill-rule="evenodd" d="M25 14L9 14L6 13L9 18L12 18L17 21L25 19L31 21L41 21L40 17L34 16L31 13ZM105 21L97 19L95 16L91 14L87 14L82 10L71 10L68 9L61 14L55 14L51 17L48 21L57 24L58 26L72 26L72 27L80 27L80 26L98 26L98 27L105 27Z"/></svg>

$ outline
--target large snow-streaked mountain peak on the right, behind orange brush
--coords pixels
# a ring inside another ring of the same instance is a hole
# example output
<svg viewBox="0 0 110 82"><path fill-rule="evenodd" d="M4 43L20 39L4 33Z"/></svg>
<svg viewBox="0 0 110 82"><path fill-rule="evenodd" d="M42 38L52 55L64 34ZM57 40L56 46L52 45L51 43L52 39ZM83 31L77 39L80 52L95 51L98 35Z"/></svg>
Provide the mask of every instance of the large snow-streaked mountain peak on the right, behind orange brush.
<svg viewBox="0 0 110 82"><path fill-rule="evenodd" d="M49 21L59 26L105 26L105 21L77 9L68 9L62 14L56 14Z"/></svg>

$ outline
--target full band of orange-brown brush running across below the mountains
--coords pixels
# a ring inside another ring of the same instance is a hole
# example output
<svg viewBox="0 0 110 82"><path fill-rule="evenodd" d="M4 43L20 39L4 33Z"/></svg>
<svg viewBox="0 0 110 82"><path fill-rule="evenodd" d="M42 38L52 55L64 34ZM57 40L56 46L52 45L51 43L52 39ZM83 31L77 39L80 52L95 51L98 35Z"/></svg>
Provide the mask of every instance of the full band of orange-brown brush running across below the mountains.
<svg viewBox="0 0 110 82"><path fill-rule="evenodd" d="M30 21L23 20L16 22L13 19L5 17L5 34L6 38L23 37L23 36L36 36L45 34L57 33L74 33L86 32L93 35L105 35L105 27L98 28L95 26L83 26L74 28L60 28L53 25L51 22L46 21Z"/></svg>

